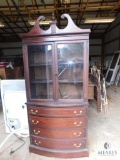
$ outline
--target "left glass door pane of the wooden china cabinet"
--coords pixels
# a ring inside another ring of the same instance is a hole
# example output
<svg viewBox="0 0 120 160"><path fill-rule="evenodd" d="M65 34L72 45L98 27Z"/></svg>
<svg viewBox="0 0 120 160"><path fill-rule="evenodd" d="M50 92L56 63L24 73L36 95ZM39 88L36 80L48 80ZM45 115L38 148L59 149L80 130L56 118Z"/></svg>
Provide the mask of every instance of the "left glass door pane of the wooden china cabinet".
<svg viewBox="0 0 120 160"><path fill-rule="evenodd" d="M28 63L31 98L52 99L52 46L28 46Z"/></svg>

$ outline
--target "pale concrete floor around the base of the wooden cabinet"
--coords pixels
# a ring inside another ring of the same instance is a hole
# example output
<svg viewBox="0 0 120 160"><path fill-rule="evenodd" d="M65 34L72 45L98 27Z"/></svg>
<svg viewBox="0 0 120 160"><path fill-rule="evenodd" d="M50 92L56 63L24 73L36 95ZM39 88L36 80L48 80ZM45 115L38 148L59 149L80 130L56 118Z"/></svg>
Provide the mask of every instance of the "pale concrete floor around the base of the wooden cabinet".
<svg viewBox="0 0 120 160"><path fill-rule="evenodd" d="M120 87L107 88L109 101L108 114L97 113L95 101L91 101L88 108L88 147L89 157L72 158L72 160L120 160ZM5 126L2 109L0 112L0 144L5 139ZM1 148L0 160L60 160L29 153L29 138L24 138L25 145L10 155L10 151L18 148L21 141L12 136ZM105 149L108 143L110 148ZM103 154L104 152L104 154Z"/></svg>

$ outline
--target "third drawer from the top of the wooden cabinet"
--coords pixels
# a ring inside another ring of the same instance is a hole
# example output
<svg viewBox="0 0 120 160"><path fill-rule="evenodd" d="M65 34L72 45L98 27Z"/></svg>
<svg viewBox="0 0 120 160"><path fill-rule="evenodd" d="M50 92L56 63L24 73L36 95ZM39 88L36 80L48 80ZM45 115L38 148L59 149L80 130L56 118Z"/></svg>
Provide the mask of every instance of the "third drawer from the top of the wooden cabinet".
<svg viewBox="0 0 120 160"><path fill-rule="evenodd" d="M86 129L44 129L31 127L32 135L46 137L46 138L84 138L86 137Z"/></svg>

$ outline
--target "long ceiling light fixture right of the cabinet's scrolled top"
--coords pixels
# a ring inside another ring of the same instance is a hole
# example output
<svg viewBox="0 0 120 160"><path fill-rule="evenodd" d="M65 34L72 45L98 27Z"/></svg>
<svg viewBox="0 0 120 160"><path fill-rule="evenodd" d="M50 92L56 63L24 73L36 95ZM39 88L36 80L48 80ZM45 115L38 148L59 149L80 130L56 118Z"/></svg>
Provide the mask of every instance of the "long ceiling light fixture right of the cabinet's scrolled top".
<svg viewBox="0 0 120 160"><path fill-rule="evenodd" d="M111 23L115 20L115 17L95 17L86 18L84 23Z"/></svg>

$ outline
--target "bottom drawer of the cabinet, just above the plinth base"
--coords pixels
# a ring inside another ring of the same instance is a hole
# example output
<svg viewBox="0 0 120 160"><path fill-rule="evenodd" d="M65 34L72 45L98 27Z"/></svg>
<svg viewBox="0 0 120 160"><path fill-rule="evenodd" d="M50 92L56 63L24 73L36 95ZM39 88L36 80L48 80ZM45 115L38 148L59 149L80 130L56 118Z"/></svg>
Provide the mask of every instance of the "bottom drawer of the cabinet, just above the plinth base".
<svg viewBox="0 0 120 160"><path fill-rule="evenodd" d="M49 149L83 149L86 147L85 139L81 140L80 138L77 139L49 139L49 138L41 138L31 136L31 143L33 145L49 148Z"/></svg>

